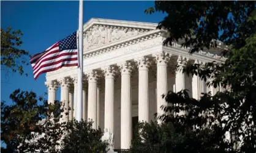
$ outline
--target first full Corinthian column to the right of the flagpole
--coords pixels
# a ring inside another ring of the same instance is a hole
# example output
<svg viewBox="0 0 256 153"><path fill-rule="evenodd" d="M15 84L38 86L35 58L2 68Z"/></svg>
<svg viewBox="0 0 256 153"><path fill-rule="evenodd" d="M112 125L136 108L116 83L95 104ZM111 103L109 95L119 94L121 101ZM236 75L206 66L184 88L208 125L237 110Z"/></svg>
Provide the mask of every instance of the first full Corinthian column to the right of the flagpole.
<svg viewBox="0 0 256 153"><path fill-rule="evenodd" d="M97 71L88 74L88 121L92 119L92 128L97 129Z"/></svg>

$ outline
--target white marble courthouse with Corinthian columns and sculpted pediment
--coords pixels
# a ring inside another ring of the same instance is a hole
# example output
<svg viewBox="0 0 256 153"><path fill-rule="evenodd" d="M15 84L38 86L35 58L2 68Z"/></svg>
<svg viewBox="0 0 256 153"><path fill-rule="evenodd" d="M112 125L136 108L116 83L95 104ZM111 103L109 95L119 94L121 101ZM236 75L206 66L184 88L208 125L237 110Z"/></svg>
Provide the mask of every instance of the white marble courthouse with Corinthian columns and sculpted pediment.
<svg viewBox="0 0 256 153"><path fill-rule="evenodd" d="M224 62L218 51L205 49L192 55L179 43L163 46L165 32L155 23L92 18L84 24L83 119L92 119L93 127L114 133L114 149L129 149L132 131L138 121L156 120L166 105L161 95L167 91L189 90L190 96L219 88L206 87L198 76L180 71L187 63ZM218 48L225 48L221 42ZM175 65L180 65L175 70ZM48 102L61 100L73 111L77 102L77 66L47 73Z"/></svg>

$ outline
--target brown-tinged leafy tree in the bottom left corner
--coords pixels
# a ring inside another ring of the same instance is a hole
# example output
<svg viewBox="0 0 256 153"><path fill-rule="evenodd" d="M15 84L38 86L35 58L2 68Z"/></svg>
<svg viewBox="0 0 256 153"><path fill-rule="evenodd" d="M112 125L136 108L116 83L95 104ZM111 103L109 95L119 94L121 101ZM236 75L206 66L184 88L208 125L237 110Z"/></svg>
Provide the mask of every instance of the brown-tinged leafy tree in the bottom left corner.
<svg viewBox="0 0 256 153"><path fill-rule="evenodd" d="M61 102L49 104L36 93L15 90L12 105L1 102L1 152L58 152L63 133ZM42 105L39 103L42 102Z"/></svg>

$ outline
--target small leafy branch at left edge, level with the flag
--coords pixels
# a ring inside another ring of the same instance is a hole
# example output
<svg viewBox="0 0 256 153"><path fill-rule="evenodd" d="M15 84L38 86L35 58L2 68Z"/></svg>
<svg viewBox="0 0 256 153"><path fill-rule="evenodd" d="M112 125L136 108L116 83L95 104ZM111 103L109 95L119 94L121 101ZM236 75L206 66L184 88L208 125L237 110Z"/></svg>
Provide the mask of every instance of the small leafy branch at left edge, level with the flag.
<svg viewBox="0 0 256 153"><path fill-rule="evenodd" d="M20 75L24 73L23 65L28 65L26 57L29 52L19 49L23 41L21 41L23 33L21 30L7 30L1 28L1 70L9 73L18 71ZM28 74L26 74L28 76Z"/></svg>

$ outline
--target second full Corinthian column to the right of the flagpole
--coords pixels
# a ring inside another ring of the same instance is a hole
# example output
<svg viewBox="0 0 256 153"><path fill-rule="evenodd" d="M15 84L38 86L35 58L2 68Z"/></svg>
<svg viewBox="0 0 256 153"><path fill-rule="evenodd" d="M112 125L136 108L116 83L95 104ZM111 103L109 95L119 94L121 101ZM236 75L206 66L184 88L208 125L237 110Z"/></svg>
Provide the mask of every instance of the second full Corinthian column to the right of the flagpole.
<svg viewBox="0 0 256 153"><path fill-rule="evenodd" d="M110 133L114 133L114 79L115 67L106 66L102 68L105 76L105 115L104 128Z"/></svg>

